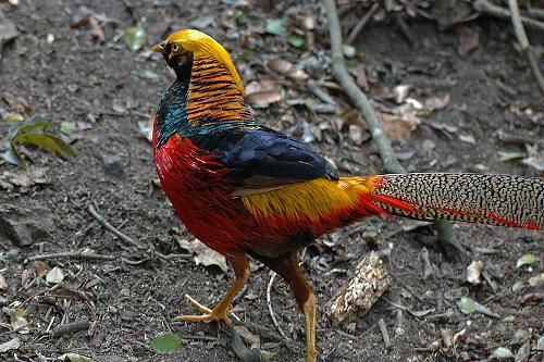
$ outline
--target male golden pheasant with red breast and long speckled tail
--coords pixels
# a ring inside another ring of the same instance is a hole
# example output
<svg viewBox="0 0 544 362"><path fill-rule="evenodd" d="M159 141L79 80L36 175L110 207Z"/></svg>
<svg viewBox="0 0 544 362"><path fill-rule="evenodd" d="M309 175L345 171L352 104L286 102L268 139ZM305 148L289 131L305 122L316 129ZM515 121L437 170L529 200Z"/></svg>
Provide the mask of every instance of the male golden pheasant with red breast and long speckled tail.
<svg viewBox="0 0 544 362"><path fill-rule="evenodd" d="M258 123L228 52L210 36L180 30L157 45L176 79L162 96L153 155L162 188L185 226L230 261L236 280L202 315L230 323L249 277L247 254L289 284L306 317L307 360L317 360L316 297L297 251L370 215L456 220L542 229L544 179L407 174L338 177L308 146Z"/></svg>

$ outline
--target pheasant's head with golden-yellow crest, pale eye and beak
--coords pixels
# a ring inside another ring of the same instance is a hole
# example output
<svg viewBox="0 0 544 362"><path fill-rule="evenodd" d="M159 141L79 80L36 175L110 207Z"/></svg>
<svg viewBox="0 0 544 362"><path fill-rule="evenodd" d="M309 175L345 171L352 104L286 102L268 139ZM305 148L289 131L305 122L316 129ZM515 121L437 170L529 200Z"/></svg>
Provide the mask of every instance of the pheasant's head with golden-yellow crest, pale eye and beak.
<svg viewBox="0 0 544 362"><path fill-rule="evenodd" d="M162 53L164 60L177 76L182 75L183 72L190 72L194 59L213 57L231 73L236 86L244 93L244 85L228 52L212 37L202 32L195 29L175 32L164 41L156 45L153 51Z"/></svg>

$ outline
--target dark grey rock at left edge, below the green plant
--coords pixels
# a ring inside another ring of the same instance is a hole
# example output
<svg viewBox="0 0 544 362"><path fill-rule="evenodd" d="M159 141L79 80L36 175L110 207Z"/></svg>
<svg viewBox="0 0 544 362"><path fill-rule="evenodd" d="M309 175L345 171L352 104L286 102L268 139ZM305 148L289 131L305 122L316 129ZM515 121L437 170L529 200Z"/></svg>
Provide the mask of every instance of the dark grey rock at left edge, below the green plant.
<svg viewBox="0 0 544 362"><path fill-rule="evenodd" d="M51 213L44 208L0 207L0 235L17 247L27 247L47 237L52 226Z"/></svg>

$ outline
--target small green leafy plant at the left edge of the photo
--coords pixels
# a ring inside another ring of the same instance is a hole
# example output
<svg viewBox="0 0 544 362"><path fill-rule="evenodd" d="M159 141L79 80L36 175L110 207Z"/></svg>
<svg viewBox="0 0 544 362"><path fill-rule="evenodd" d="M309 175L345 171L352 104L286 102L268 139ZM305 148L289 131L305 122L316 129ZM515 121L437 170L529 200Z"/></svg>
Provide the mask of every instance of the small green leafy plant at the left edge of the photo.
<svg viewBox="0 0 544 362"><path fill-rule="evenodd" d="M33 145L55 153L59 157L76 157L77 152L63 141L59 136L44 132L51 129L53 124L47 120L36 117L30 122L20 123L10 128L3 145L2 158L21 167L27 167L28 163L21 157L18 145Z"/></svg>

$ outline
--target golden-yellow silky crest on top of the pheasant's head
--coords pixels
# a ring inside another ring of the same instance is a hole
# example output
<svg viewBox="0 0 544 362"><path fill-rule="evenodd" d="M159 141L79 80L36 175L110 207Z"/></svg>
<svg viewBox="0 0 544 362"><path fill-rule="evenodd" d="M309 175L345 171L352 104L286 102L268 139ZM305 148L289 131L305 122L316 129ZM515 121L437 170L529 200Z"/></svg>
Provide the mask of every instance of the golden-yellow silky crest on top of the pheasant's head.
<svg viewBox="0 0 544 362"><path fill-rule="evenodd" d="M231 54L228 54L226 49L208 34L195 29L184 29L171 34L164 42L177 42L183 49L191 51L195 57L211 55L215 58L231 73L236 86L244 95L244 84L242 83L238 72L234 66Z"/></svg>

